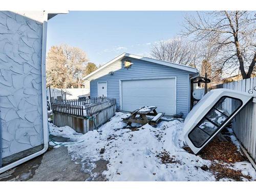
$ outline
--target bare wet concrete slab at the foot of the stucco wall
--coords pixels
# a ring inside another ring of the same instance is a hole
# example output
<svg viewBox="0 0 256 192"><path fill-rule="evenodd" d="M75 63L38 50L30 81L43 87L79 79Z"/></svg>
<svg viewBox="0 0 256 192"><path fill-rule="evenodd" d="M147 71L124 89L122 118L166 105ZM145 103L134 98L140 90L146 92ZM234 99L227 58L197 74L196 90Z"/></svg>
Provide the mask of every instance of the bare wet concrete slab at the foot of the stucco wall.
<svg viewBox="0 0 256 192"><path fill-rule="evenodd" d="M67 147L50 147L44 155L0 174L0 181L105 181L102 175L107 169L105 160L96 163L92 174L84 173L80 162L75 162L71 160Z"/></svg>

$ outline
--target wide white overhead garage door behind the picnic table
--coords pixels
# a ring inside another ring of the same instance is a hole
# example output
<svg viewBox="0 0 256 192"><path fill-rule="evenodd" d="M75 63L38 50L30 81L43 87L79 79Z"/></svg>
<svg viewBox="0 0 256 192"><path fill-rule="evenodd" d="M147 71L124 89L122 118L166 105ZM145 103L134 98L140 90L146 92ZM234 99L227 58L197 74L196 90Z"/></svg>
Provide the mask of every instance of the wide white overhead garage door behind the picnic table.
<svg viewBox="0 0 256 192"><path fill-rule="evenodd" d="M134 111L142 106L157 106L157 112L176 113L175 78L122 80L122 110Z"/></svg>

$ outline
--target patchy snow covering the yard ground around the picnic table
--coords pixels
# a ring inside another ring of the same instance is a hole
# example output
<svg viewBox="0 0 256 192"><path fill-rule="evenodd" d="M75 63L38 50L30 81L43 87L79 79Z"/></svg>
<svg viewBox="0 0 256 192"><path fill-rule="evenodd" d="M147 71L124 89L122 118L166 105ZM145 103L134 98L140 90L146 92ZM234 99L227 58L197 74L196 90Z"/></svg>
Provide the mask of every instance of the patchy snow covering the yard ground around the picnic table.
<svg viewBox="0 0 256 192"><path fill-rule="evenodd" d="M50 132L52 135L61 135L80 142L66 146L74 163L77 159L81 160L84 172L92 173L95 162L100 159L108 161L108 170L103 174L109 181L216 180L208 169L201 168L209 167L209 160L183 150L183 122L170 119L160 122L157 127L146 124L132 131L123 129L126 124L121 117L126 115L116 113L98 130L84 135L76 133L68 126L56 127L53 124L49 124ZM256 179L255 170L250 163L238 162L232 165L232 169L241 170L245 176Z"/></svg>

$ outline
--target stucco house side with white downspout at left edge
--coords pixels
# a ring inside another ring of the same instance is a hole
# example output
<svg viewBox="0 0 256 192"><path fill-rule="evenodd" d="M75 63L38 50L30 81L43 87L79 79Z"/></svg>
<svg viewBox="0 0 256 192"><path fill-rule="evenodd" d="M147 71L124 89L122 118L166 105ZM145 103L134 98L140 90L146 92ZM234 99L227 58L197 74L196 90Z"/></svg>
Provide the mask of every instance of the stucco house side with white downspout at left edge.
<svg viewBox="0 0 256 192"><path fill-rule="evenodd" d="M48 148L46 35L56 14L0 11L0 173Z"/></svg>

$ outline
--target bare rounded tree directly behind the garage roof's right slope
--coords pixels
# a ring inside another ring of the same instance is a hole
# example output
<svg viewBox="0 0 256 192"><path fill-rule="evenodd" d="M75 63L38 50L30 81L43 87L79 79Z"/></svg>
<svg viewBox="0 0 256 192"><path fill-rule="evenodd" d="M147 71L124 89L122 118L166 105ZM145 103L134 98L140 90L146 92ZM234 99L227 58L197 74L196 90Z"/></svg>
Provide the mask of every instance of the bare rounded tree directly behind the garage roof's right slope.
<svg viewBox="0 0 256 192"><path fill-rule="evenodd" d="M196 67L196 60L198 59L196 44L189 43L181 38L159 41L153 46L151 55L159 60L193 67Z"/></svg>

